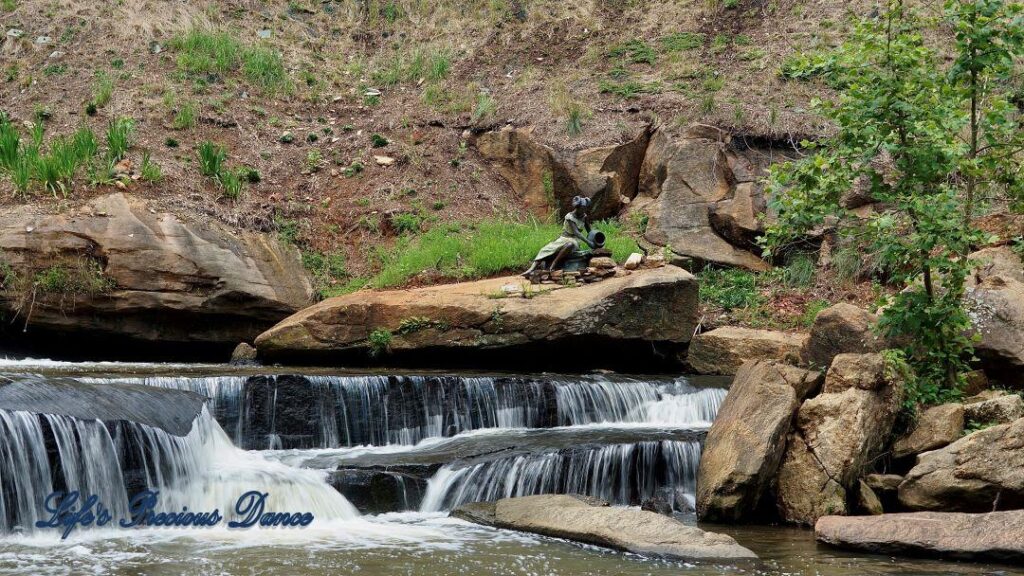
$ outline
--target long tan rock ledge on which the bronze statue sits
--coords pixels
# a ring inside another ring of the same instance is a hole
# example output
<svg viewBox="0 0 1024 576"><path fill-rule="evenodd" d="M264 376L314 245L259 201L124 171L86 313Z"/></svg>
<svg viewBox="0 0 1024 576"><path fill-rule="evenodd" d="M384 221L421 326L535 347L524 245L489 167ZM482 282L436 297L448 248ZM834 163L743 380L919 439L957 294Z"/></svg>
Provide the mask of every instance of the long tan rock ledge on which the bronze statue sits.
<svg viewBox="0 0 1024 576"><path fill-rule="evenodd" d="M567 338L686 342L696 325L697 284L675 266L643 270L577 288L545 286L530 298L495 297L523 279L497 278L330 298L256 339L263 359L373 351L483 351ZM536 289L534 289L536 291Z"/></svg>

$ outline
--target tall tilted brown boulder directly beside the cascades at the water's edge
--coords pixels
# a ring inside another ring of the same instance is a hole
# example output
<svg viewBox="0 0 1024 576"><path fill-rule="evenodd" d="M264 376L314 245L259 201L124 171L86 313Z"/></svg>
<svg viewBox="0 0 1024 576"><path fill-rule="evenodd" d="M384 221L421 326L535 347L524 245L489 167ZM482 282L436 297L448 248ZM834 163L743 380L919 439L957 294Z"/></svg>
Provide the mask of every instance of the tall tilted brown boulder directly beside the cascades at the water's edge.
<svg viewBox="0 0 1024 576"><path fill-rule="evenodd" d="M800 402L820 374L777 362L742 365L708 433L697 472L697 515L750 520L774 481Z"/></svg>

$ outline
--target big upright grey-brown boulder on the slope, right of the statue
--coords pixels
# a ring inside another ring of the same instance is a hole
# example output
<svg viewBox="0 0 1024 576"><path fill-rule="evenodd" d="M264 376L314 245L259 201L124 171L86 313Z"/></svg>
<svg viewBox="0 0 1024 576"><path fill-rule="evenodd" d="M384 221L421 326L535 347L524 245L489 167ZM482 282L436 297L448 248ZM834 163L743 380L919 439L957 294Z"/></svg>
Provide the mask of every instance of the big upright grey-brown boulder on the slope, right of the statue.
<svg viewBox="0 0 1024 576"><path fill-rule="evenodd" d="M754 252L730 244L713 227L711 214L718 213L723 228L741 236L743 225L755 225L755 211L763 204L743 200L743 194L757 194L749 187L737 191L729 153L729 136L722 130L695 126L674 135L658 128L650 137L630 212L646 217L644 237L652 244L701 262L767 270Z"/></svg>

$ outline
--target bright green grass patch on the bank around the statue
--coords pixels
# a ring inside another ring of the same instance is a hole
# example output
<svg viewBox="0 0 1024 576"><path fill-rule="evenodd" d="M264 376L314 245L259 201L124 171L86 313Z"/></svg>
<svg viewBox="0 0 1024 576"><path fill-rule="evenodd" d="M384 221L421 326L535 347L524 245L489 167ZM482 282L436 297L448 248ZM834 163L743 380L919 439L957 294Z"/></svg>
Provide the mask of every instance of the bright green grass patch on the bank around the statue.
<svg viewBox="0 0 1024 576"><path fill-rule="evenodd" d="M607 236L605 247L615 260L624 261L639 251L636 241L616 222L598 222L595 228ZM399 240L368 284L400 286L425 271L436 271L445 279L471 280L525 270L541 247L559 234L560 225L536 221L493 219L437 225L421 236Z"/></svg>

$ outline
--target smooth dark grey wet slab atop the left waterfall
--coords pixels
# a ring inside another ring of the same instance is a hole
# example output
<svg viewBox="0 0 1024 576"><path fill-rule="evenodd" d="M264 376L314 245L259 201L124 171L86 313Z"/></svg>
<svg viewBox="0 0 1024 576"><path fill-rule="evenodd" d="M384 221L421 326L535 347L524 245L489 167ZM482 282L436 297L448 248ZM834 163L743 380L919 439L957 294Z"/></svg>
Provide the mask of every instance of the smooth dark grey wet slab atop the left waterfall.
<svg viewBox="0 0 1024 576"><path fill-rule="evenodd" d="M125 420L174 436L191 430L206 398L188 390L138 384L93 384L71 378L0 376L0 410L83 420Z"/></svg>

